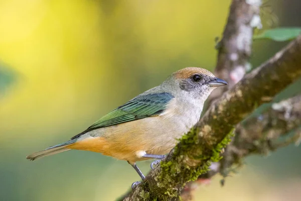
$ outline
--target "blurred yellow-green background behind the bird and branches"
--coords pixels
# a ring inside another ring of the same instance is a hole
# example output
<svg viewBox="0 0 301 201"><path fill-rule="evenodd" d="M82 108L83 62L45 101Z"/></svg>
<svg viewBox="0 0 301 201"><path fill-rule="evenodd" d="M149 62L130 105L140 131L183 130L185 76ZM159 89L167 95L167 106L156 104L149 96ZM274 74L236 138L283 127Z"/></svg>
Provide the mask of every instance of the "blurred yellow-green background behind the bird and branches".
<svg viewBox="0 0 301 201"><path fill-rule="evenodd" d="M301 2L268 1L264 29L301 26ZM0 0L0 200L114 200L139 180L125 161L61 143L186 66L213 71L230 0ZM279 18L277 21L275 15ZM256 67L286 43L255 41ZM299 82L298 87L301 82ZM298 91L297 85L288 93ZM300 200L301 147L252 156L196 200ZM146 173L150 162L139 162Z"/></svg>

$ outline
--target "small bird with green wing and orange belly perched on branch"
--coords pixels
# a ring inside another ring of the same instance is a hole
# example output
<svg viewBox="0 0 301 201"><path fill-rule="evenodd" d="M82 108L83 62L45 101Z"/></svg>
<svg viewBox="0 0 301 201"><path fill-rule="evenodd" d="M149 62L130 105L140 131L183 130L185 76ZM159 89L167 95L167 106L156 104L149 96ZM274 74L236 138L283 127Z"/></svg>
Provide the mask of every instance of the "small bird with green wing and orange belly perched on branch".
<svg viewBox="0 0 301 201"><path fill-rule="evenodd" d="M99 152L126 160L143 180L145 177L135 162L163 159L163 154L170 152L176 140L199 121L211 91L226 84L206 69L181 69L161 85L103 116L71 140L26 158L35 160L71 149Z"/></svg>

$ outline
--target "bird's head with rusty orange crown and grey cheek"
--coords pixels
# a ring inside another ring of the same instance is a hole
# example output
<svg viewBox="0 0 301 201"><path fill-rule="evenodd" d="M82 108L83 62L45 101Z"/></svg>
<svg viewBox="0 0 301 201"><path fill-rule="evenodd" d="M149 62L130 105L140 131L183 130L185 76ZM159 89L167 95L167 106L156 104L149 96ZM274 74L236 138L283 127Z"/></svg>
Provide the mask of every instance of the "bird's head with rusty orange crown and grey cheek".
<svg viewBox="0 0 301 201"><path fill-rule="evenodd" d="M205 101L211 91L218 86L227 84L225 80L217 78L210 71L198 68L187 67L173 73L167 84L173 86L179 95Z"/></svg>

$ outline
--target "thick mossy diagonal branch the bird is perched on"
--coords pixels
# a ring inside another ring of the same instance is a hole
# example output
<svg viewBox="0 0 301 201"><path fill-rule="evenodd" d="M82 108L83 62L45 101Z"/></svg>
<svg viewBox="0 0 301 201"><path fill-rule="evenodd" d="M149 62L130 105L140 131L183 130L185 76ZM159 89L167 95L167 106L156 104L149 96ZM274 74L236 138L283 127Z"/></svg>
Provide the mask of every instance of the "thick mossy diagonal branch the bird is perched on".
<svg viewBox="0 0 301 201"><path fill-rule="evenodd" d="M171 200L186 182L207 172L231 131L259 105L301 75L301 36L225 92L198 124L124 200ZM231 115L235 113L235 115Z"/></svg>

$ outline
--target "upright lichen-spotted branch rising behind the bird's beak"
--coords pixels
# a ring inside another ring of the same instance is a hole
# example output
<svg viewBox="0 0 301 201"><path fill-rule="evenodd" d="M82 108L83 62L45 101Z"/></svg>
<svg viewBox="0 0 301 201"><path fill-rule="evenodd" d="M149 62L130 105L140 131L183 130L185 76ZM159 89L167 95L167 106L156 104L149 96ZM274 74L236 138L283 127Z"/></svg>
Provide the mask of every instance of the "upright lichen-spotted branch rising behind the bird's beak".
<svg viewBox="0 0 301 201"><path fill-rule="evenodd" d="M218 56L214 74L228 82L217 88L209 103L233 87L250 68L253 28L261 28L259 17L261 0L233 0L222 40L217 44Z"/></svg>

